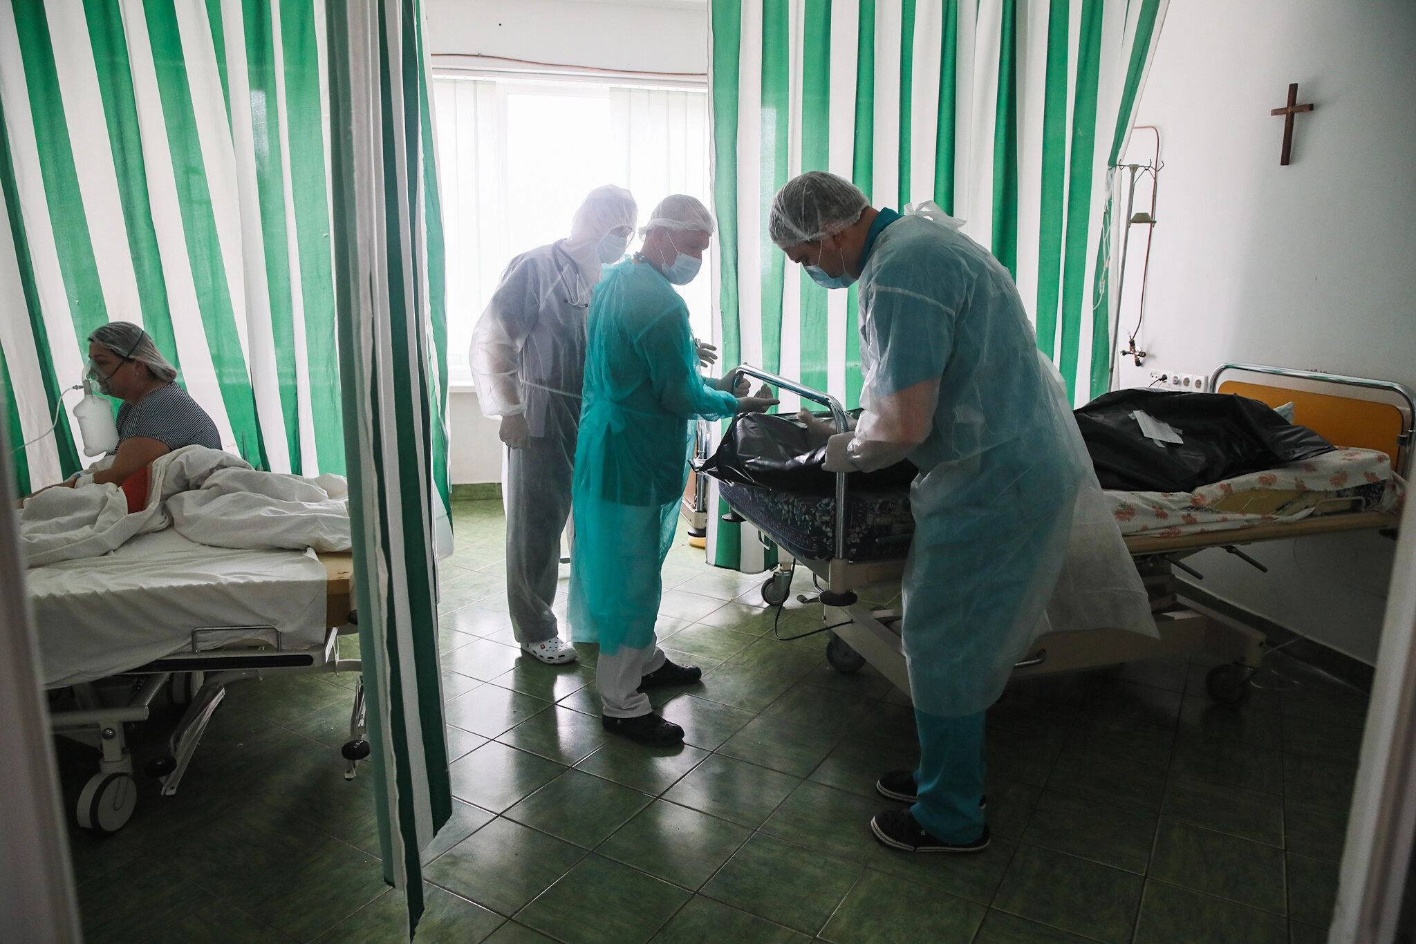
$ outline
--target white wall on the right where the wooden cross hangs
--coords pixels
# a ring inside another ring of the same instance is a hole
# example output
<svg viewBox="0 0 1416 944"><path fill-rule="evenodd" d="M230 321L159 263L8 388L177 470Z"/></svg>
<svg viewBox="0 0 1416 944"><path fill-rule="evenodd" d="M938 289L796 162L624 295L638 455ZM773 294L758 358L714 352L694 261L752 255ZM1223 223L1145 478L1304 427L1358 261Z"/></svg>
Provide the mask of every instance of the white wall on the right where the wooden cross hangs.
<svg viewBox="0 0 1416 944"><path fill-rule="evenodd" d="M1165 161L1151 358L1126 362L1121 385L1256 361L1416 386L1413 48L1410 0L1170 4L1137 119L1160 127ZM1269 110L1290 82L1317 108L1280 167ZM1222 551L1192 562L1205 590L1372 662L1392 549L1376 535L1247 549L1270 575Z"/></svg>

